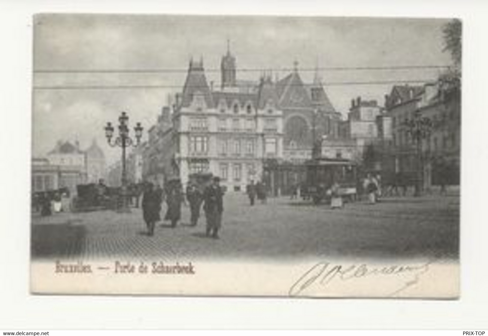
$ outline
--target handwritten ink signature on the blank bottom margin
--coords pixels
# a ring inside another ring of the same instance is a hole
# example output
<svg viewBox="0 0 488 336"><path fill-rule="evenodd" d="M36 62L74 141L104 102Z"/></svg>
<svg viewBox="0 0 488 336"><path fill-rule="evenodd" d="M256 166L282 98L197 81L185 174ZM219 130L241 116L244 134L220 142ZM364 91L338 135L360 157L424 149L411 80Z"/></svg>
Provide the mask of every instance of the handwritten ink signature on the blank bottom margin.
<svg viewBox="0 0 488 336"><path fill-rule="evenodd" d="M387 296L394 296L408 287L416 284L420 276L429 270L429 266L434 262L430 260L426 263L417 265L389 265L381 267L371 267L367 264L344 266L320 262L307 270L290 288L288 294L297 296L312 285L326 287L332 281L349 281L353 279L382 276L393 277L399 275L411 275L408 280L402 281L401 286L389 293Z"/></svg>

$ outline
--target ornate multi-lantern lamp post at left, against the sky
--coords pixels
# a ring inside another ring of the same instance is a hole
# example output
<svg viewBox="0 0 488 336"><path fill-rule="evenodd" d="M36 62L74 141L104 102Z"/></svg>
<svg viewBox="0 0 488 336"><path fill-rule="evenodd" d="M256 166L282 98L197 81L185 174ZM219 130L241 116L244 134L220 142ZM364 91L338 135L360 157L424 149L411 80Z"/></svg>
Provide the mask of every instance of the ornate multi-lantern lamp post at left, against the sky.
<svg viewBox="0 0 488 336"><path fill-rule="evenodd" d="M107 122L105 126L105 136L107 137L107 142L111 147L121 147L122 148L122 208L121 212L130 212L128 200L127 200L127 171L125 162L125 149L127 147L137 147L141 143L142 137L142 126L138 122L136 127L134 127L135 141L129 136L129 117L126 112L122 112L119 117L119 136L117 136L113 141L114 127L112 123Z"/></svg>

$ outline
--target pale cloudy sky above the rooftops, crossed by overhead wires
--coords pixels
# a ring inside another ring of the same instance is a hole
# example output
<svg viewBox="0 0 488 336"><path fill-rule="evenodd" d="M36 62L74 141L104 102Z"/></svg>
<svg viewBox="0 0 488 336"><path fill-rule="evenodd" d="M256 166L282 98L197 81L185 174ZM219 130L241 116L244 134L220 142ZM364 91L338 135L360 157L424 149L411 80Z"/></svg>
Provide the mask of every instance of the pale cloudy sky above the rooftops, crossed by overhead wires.
<svg viewBox="0 0 488 336"><path fill-rule="evenodd" d="M191 56L203 57L207 78L219 83L220 58L230 39L240 79L255 79L260 69L284 77L299 62L311 81L317 64L335 108L346 113L350 99L383 96L391 85L337 85L344 82L431 80L439 69L346 70L330 67L449 65L442 52L442 26L436 19L350 19L290 17L190 17L41 15L35 18L34 70L167 69L156 73L35 72L33 152L43 156L58 139L96 139L110 162L120 151L105 144L103 126L121 111L145 129L154 124L167 95L184 82ZM327 86L329 84L329 86ZM332 85L334 84L334 85ZM113 86L164 86L114 89ZM84 89L61 90L76 86ZM96 88L93 88L93 87ZM110 89L100 89L110 86ZM92 87L88 89L86 87ZM43 89L42 89L43 88Z"/></svg>

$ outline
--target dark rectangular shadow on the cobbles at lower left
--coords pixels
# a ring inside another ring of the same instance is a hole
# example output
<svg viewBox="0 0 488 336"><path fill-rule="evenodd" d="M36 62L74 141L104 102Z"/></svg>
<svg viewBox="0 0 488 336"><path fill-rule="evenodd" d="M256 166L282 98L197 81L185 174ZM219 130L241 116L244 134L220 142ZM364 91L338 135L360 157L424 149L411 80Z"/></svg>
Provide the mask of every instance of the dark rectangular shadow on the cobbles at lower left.
<svg viewBox="0 0 488 336"><path fill-rule="evenodd" d="M43 224L32 226L32 258L72 257L81 254L86 229L83 225Z"/></svg>

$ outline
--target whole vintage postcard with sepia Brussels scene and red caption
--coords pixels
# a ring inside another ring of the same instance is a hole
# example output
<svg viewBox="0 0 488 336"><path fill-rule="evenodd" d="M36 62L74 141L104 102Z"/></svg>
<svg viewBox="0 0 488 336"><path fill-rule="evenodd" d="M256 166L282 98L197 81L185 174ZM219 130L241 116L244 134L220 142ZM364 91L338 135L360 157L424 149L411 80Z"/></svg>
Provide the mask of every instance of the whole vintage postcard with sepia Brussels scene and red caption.
<svg viewBox="0 0 488 336"><path fill-rule="evenodd" d="M459 297L459 20L33 21L31 292Z"/></svg>

